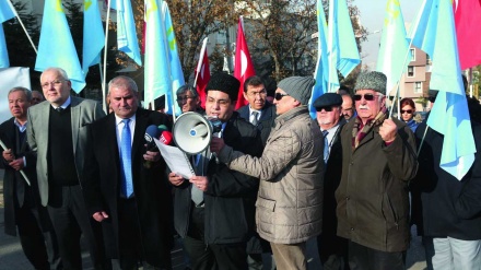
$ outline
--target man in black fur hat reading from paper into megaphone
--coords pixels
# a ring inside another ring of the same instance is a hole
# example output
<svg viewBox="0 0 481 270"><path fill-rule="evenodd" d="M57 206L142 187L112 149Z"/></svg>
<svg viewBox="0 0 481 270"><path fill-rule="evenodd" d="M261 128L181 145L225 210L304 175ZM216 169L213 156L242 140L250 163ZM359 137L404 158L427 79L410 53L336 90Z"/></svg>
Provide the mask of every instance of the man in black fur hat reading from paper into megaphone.
<svg viewBox="0 0 481 270"><path fill-rule="evenodd" d="M211 77L206 92L206 115L222 122L221 137L238 151L259 155L260 137L256 127L234 110L239 81L226 73ZM180 149L193 149L196 140L183 140L175 124L174 139ZM196 121L187 131L202 131ZM187 132L186 131L186 132ZM204 132L202 132L204 133ZM178 137L177 137L178 136ZM209 138L210 140L210 138ZM258 181L219 164L203 152L192 155L196 175L185 179L173 172L175 186L174 223L184 238L185 251L192 269L247 269L246 240L254 228L254 209ZM204 163L199 160L206 160ZM204 164L206 166L202 166Z"/></svg>

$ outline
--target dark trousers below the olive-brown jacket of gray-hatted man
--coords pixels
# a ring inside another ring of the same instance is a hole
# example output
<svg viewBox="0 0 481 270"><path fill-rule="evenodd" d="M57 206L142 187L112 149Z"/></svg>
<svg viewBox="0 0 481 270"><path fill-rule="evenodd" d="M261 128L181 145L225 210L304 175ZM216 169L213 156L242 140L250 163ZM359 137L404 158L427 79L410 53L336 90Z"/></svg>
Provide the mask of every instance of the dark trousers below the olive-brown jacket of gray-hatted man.
<svg viewBox="0 0 481 270"><path fill-rule="evenodd" d="M406 251L386 253L349 242L352 270L404 270Z"/></svg>

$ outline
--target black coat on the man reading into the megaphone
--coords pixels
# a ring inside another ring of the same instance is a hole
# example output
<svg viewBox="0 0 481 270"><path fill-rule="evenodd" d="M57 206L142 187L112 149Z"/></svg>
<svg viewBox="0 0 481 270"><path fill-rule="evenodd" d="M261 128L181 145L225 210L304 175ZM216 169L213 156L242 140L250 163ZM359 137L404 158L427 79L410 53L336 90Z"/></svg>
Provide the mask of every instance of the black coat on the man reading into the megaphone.
<svg viewBox="0 0 481 270"><path fill-rule="evenodd" d="M234 111L223 131L225 144L237 151L259 156L262 144L256 127ZM214 159L207 169L209 186L204 192L204 242L232 244L246 242L254 233L255 202L259 180L218 164ZM187 235L191 212L191 185L185 180L175 187L174 224L181 237Z"/></svg>

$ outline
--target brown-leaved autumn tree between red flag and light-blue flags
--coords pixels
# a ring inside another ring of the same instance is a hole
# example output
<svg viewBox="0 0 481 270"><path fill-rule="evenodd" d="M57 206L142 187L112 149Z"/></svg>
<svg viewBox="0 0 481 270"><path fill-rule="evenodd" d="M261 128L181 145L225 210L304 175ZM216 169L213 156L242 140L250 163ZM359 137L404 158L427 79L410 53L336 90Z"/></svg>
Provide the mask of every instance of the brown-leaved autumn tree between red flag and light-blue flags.
<svg viewBox="0 0 481 270"><path fill-rule="evenodd" d="M268 84L280 81L288 75L308 75L315 71L317 61L317 39L312 34L317 32L317 14L315 0L277 0L246 1L243 12L249 14L246 31L249 48L257 73L267 79ZM329 1L322 1L328 15ZM357 7L348 1L357 47L366 39L366 30L360 25ZM247 21L246 21L247 24ZM253 42L255 40L255 42ZM260 71L260 73L259 73ZM354 69L340 82L353 84L361 67ZM271 77L272 79L269 79Z"/></svg>

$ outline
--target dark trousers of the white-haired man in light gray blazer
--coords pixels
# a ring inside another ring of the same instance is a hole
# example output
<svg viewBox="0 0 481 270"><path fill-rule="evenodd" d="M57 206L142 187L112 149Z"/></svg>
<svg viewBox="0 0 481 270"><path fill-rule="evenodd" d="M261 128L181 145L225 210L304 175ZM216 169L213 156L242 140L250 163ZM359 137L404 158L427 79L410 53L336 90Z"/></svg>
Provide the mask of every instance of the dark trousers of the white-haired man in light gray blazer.
<svg viewBox="0 0 481 270"><path fill-rule="evenodd" d="M105 259L102 228L87 214L80 186L50 189L48 213L54 224L64 269L82 269L80 237L83 234L95 269L112 268Z"/></svg>

